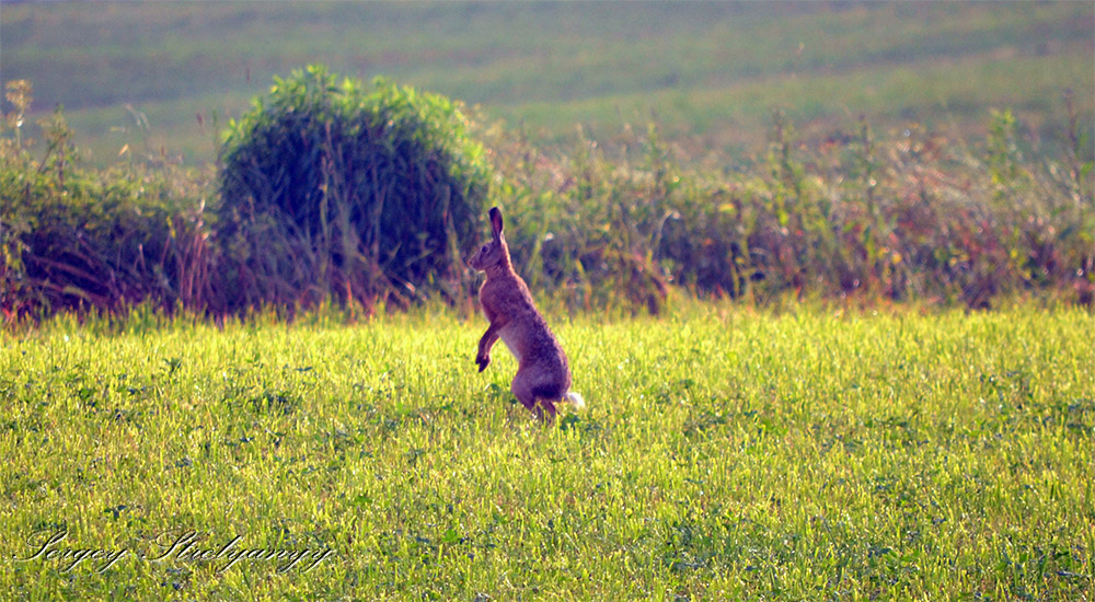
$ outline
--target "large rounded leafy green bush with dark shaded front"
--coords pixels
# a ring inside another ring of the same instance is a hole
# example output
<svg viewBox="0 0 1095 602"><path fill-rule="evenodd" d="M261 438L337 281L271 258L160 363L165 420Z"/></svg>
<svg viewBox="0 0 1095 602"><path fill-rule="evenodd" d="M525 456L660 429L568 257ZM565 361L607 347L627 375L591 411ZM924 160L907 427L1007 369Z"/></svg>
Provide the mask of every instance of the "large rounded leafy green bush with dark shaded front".
<svg viewBox="0 0 1095 602"><path fill-rule="evenodd" d="M371 308L466 293L489 171L459 105L322 67L275 79L222 151L214 304Z"/></svg>

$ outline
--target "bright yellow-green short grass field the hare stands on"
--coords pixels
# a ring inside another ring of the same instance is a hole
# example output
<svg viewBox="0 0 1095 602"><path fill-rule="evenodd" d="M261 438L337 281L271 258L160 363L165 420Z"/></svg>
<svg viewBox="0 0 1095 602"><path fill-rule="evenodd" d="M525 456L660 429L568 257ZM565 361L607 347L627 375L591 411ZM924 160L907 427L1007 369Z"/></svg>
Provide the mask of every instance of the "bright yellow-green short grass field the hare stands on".
<svg viewBox="0 0 1095 602"><path fill-rule="evenodd" d="M0 334L0 590L1095 597L1090 312L553 323L588 403L553 426L502 348L475 372L479 317Z"/></svg>

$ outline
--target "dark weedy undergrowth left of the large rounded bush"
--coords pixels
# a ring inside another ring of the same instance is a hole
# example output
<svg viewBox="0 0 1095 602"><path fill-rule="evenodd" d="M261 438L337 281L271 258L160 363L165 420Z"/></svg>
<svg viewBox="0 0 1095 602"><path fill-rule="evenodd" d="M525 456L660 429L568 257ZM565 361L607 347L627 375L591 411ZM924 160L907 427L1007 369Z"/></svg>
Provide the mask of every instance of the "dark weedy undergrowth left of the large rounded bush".
<svg viewBox="0 0 1095 602"><path fill-rule="evenodd" d="M9 82L0 138L0 311L9 320L150 302L201 310L207 177L165 158L84 169L58 109L45 155L22 136L27 82ZM10 135L10 136L8 136Z"/></svg>

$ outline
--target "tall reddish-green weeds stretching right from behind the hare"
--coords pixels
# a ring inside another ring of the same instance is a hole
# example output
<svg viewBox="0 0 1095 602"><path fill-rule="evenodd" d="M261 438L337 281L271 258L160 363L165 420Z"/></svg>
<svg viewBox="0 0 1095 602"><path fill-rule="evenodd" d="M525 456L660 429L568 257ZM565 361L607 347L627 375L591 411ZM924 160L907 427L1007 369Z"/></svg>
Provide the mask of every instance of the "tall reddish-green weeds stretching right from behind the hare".
<svg viewBox="0 0 1095 602"><path fill-rule="evenodd" d="M657 311L665 283L753 301L798 297L934 300L987 308L1000 293L1091 304L1091 144L1071 104L1063 157L1028 160L1010 112L983 148L917 125L877 139L866 120L816 146L773 112L760 160L689 155L627 129L613 148L555 153L495 128L518 216L517 266L572 304L623 298ZM706 150L703 151L706 153Z"/></svg>

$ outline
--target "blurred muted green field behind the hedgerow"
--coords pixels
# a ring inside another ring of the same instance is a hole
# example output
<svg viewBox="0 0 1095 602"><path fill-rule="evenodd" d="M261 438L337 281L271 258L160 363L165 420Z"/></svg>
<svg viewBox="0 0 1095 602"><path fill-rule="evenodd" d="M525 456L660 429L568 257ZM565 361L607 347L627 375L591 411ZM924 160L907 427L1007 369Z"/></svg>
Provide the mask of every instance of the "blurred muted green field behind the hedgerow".
<svg viewBox="0 0 1095 602"><path fill-rule="evenodd" d="M1093 31L1090 2L4 3L0 78L32 80L39 112L64 104L100 163L127 143L208 161L214 112L239 116L273 74L313 62L481 104L537 137L656 115L741 151L773 105L972 136L1011 107L1036 135L1059 129L1064 89L1095 111Z"/></svg>

